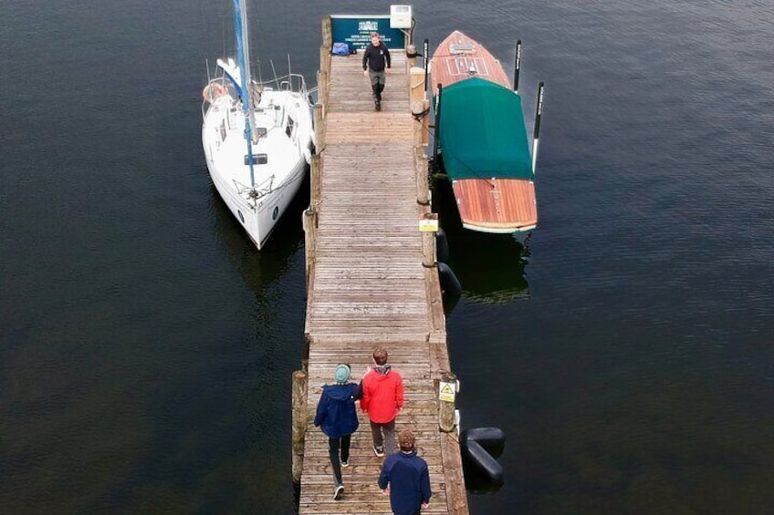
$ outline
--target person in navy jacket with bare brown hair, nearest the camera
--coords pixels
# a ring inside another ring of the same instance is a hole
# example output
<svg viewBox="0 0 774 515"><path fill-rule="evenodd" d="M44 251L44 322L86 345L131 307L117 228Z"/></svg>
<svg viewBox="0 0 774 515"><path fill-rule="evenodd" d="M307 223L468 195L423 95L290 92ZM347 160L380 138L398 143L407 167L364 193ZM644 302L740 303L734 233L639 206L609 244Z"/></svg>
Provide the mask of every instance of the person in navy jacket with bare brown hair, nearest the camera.
<svg viewBox="0 0 774 515"><path fill-rule="evenodd" d="M416 455L412 430L406 427L398 435L401 452L384 460L379 475L382 494L390 494L395 515L417 515L430 503L430 473L427 462ZM389 487L389 488L388 488Z"/></svg>

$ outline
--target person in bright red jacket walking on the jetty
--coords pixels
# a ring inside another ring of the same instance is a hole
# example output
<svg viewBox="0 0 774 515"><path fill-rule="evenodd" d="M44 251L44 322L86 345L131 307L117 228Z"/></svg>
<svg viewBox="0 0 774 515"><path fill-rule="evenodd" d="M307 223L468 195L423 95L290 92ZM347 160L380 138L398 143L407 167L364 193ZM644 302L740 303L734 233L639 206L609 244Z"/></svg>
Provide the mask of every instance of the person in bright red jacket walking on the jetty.
<svg viewBox="0 0 774 515"><path fill-rule="evenodd" d="M379 458L384 456L385 448L387 454L395 451L395 417L402 407L403 379L387 365L387 351L376 347L373 367L362 378L361 409L371 420L373 452Z"/></svg>

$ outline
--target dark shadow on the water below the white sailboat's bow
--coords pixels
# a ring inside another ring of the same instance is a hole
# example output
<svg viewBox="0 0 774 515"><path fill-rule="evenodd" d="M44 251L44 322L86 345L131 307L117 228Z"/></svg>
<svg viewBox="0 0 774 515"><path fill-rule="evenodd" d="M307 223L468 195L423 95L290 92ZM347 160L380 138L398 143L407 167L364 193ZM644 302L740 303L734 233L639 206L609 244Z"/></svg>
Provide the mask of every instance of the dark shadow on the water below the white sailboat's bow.
<svg viewBox="0 0 774 515"><path fill-rule="evenodd" d="M228 211L212 184L210 205L214 213L215 237L223 243L229 260L235 264L249 290L257 293L287 271L290 259L303 247L301 215L309 206L309 174L261 251L256 249L239 221Z"/></svg>

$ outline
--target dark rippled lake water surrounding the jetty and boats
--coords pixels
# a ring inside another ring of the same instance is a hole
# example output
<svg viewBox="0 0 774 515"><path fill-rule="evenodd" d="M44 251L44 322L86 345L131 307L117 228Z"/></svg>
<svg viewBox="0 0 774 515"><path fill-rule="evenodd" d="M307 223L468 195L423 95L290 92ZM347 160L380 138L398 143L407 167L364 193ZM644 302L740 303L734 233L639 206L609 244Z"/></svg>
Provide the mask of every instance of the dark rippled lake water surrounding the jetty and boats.
<svg viewBox="0 0 774 515"><path fill-rule="evenodd" d="M253 6L314 83L326 13ZM464 427L507 432L473 513L774 512L774 4L416 1L546 105L540 225L450 230ZM211 185L230 2L0 0L0 511L292 513L303 195L263 252Z"/></svg>

